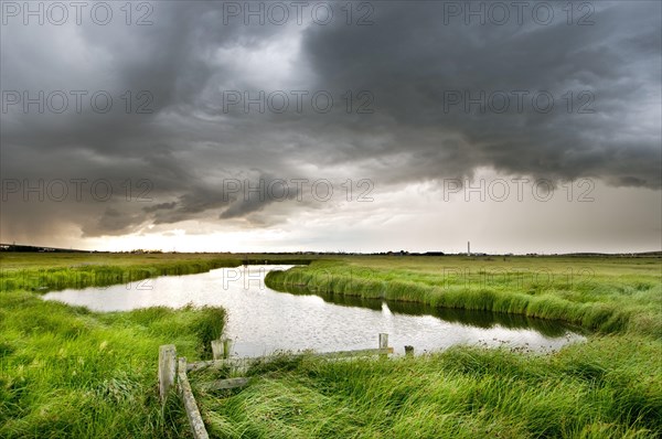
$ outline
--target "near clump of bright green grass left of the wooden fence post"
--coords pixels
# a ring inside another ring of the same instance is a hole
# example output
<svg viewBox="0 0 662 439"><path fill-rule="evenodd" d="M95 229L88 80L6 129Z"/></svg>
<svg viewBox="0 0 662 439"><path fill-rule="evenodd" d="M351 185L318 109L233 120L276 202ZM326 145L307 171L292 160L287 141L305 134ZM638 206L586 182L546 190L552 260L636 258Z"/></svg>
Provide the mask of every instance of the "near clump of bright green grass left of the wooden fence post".
<svg viewBox="0 0 662 439"><path fill-rule="evenodd" d="M24 291L3 291L0 312L2 438L188 435L181 407L161 413L159 345L197 358L225 319L216 308L97 314Z"/></svg>

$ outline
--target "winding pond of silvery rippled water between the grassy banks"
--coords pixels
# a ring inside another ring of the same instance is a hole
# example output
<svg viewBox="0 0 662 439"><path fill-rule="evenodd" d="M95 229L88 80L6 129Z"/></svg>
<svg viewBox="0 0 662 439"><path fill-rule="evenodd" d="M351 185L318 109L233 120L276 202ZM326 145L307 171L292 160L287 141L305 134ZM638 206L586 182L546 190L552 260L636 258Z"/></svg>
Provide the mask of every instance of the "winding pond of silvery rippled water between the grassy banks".
<svg viewBox="0 0 662 439"><path fill-rule="evenodd" d="M221 306L227 311L225 336L234 354L258 356L274 351L318 352L377 347L378 333L389 336L397 354L405 345L416 353L456 344L506 345L536 352L584 341L577 329L524 317L438 310L421 304L323 297L275 291L265 275L291 266L221 268L188 276L164 276L111 287L68 289L46 300L95 311L128 311L167 306Z"/></svg>

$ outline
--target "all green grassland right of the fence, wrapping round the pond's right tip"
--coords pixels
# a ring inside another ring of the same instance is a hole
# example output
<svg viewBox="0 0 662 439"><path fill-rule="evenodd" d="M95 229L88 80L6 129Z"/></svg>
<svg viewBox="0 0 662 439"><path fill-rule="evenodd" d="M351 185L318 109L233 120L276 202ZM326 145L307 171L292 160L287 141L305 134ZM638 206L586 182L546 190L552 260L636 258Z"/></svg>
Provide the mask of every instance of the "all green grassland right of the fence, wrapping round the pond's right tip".
<svg viewBox="0 0 662 439"><path fill-rule="evenodd" d="M217 437L662 437L660 259L398 258L317 261L292 290L563 320L601 331L537 355L453 347L392 361L284 361L235 394L202 394Z"/></svg>

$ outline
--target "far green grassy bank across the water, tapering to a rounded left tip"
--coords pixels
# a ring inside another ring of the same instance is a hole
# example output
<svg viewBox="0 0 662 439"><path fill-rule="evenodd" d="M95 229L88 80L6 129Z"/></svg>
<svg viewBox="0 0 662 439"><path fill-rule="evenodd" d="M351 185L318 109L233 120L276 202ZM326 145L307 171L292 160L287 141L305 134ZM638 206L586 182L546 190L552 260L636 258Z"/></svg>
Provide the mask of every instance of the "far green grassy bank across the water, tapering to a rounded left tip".
<svg viewBox="0 0 662 439"><path fill-rule="evenodd" d="M661 269L660 258L365 257L271 271L266 283L662 336Z"/></svg>

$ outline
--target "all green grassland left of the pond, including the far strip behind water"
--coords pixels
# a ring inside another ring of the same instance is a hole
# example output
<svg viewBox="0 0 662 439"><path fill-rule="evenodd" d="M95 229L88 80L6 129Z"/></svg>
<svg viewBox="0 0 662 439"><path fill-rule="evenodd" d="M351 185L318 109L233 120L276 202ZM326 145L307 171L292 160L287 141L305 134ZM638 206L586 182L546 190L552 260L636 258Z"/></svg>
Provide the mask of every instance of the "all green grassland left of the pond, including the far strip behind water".
<svg viewBox="0 0 662 439"><path fill-rule="evenodd" d="M188 437L182 408L158 401L161 344L209 357L220 308L94 313L33 291L105 286L237 265L227 256L2 254L0 437Z"/></svg>

